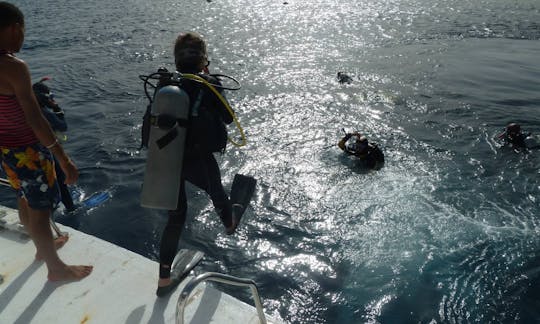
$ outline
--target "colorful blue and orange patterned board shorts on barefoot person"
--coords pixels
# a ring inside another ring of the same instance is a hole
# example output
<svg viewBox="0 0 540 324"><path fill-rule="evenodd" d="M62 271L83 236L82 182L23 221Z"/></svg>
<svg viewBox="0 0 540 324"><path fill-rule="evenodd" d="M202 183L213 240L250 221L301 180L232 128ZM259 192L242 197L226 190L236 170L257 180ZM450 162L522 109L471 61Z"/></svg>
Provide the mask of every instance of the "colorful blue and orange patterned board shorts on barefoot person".
<svg viewBox="0 0 540 324"><path fill-rule="evenodd" d="M0 146L2 168L17 195L32 209L54 209L60 202L60 189L51 152L36 143L16 148Z"/></svg>

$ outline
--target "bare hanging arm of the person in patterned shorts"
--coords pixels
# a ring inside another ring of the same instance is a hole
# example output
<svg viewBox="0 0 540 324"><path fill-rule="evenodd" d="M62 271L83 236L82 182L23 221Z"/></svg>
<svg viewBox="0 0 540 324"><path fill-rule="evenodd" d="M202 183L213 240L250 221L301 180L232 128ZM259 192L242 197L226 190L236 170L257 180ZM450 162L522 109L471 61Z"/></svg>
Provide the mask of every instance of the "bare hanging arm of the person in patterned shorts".
<svg viewBox="0 0 540 324"><path fill-rule="evenodd" d="M65 183L74 183L79 176L77 168L66 155L62 146L57 142L51 126L45 117L43 117L41 108L39 107L36 97L34 96L34 91L32 90L28 66L22 60L17 59L9 66L8 71L6 72L10 76L14 94L24 111L26 122L34 131L39 142L49 148L59 161L60 167L66 174Z"/></svg>

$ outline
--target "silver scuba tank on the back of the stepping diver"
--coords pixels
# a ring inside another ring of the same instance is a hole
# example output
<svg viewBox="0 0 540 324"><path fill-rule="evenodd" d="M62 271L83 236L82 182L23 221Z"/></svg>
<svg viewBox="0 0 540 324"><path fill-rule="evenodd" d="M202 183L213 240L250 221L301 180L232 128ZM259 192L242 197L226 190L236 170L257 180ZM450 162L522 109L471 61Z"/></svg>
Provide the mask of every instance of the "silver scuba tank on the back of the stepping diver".
<svg viewBox="0 0 540 324"><path fill-rule="evenodd" d="M174 210L178 204L190 100L176 85L160 88L151 107L141 206Z"/></svg>

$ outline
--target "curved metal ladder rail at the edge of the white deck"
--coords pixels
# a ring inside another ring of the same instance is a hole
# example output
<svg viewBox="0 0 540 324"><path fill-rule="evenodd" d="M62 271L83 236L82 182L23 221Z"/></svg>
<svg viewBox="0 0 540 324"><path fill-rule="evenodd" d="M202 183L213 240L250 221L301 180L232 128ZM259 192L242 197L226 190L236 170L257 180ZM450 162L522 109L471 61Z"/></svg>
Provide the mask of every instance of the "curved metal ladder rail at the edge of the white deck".
<svg viewBox="0 0 540 324"><path fill-rule="evenodd" d="M178 302L176 304L176 324L184 324L184 308L186 307L186 302L189 295L191 295L196 286L204 281L215 281L233 286L251 288L253 300L255 301L255 307L257 308L257 314L259 315L259 321L261 324L266 324L266 317L262 308L261 297L259 296L259 291L257 290L255 281L251 279L237 278L218 272L206 272L200 274L186 284L180 293L180 297L178 297Z"/></svg>

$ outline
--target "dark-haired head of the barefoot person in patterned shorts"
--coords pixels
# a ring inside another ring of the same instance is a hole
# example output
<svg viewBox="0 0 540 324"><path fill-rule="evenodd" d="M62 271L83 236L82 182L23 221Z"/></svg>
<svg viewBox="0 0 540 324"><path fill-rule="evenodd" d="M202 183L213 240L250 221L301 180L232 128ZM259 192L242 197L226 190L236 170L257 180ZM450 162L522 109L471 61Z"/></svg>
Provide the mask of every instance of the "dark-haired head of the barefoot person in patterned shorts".
<svg viewBox="0 0 540 324"><path fill-rule="evenodd" d="M24 15L15 5L0 1L0 50L18 52L24 42Z"/></svg>

